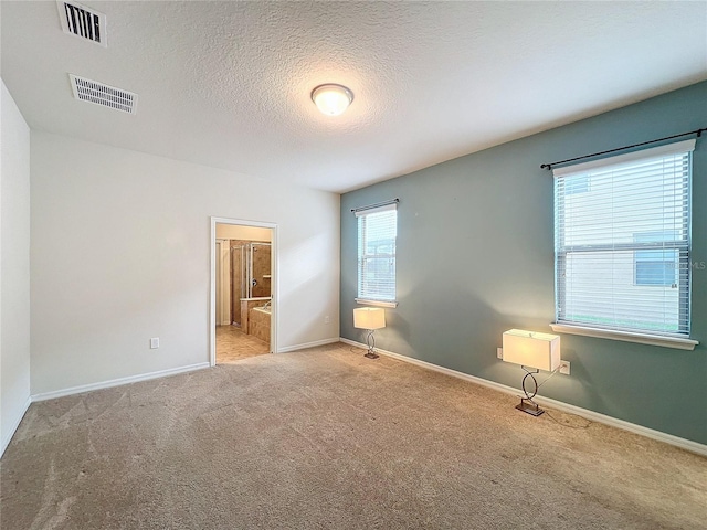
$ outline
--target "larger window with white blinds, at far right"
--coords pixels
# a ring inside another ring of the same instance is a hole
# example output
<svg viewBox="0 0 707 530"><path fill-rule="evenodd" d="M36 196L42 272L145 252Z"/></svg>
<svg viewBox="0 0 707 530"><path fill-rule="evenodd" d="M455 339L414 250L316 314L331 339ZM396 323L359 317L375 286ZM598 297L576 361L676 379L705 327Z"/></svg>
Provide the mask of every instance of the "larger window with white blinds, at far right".
<svg viewBox="0 0 707 530"><path fill-rule="evenodd" d="M557 324L689 336L694 148L553 170Z"/></svg>

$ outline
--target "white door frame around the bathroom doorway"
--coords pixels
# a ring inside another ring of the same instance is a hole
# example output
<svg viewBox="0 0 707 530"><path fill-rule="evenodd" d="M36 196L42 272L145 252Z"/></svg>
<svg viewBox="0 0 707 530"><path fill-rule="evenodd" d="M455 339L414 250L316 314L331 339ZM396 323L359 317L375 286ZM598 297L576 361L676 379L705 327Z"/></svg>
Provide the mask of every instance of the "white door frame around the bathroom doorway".
<svg viewBox="0 0 707 530"><path fill-rule="evenodd" d="M210 218L211 219L211 287L209 300L209 363L217 364L217 223L238 224L241 226L254 226L258 229L271 229L271 320L270 320L270 352L277 351L277 301L279 298L279 274L277 269L277 224L261 221L246 221L242 219Z"/></svg>

